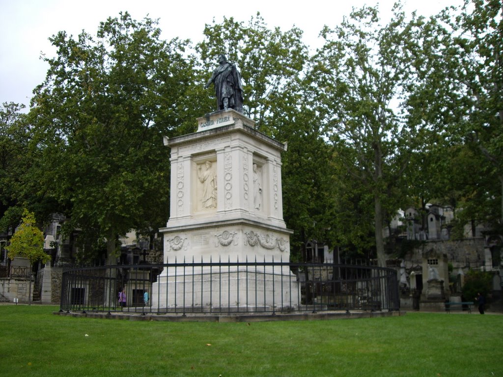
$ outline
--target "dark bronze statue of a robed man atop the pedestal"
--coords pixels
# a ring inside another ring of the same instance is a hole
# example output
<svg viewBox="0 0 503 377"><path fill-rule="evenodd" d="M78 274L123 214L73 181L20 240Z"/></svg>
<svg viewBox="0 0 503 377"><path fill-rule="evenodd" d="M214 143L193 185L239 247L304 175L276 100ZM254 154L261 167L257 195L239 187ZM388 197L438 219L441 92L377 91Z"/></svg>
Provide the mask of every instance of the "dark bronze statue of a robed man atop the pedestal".
<svg viewBox="0 0 503 377"><path fill-rule="evenodd" d="M225 55L218 57L220 65L213 71L205 88L213 82L217 98L217 110L234 109L243 112L243 85L241 74L235 64L229 63Z"/></svg>

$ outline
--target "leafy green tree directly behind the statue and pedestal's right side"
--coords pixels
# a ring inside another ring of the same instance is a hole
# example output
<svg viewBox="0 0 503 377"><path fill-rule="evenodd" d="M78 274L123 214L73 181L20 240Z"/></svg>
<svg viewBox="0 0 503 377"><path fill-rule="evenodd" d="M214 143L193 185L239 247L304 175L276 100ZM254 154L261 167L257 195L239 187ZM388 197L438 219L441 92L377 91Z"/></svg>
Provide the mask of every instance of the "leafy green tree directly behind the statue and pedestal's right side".
<svg viewBox="0 0 503 377"><path fill-rule="evenodd" d="M244 81L245 115L257 122L260 131L288 143L282 157L283 208L287 226L295 230L292 258L299 258L307 240L329 237L323 209L331 200L330 147L312 122L314 113L303 94L308 54L302 32L269 28L257 14L247 23L233 18L213 21L204 35L197 45L203 69L211 72L217 56L225 53L238 65ZM209 111L214 110L211 102Z"/></svg>

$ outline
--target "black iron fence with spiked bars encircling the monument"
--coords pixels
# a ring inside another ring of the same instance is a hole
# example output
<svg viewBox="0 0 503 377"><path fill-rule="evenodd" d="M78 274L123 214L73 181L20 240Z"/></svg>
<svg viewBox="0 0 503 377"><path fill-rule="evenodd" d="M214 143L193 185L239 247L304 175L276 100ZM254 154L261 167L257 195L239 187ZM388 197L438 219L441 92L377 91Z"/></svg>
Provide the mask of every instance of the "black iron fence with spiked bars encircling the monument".
<svg viewBox="0 0 503 377"><path fill-rule="evenodd" d="M124 306L119 302L122 291ZM394 269L257 261L68 268L63 271L60 304L67 312L141 314L398 309Z"/></svg>

